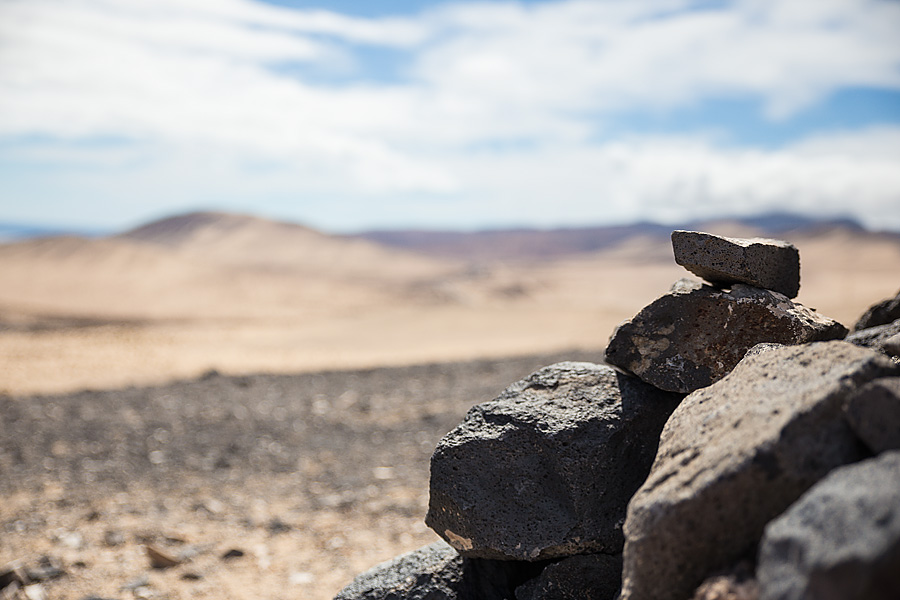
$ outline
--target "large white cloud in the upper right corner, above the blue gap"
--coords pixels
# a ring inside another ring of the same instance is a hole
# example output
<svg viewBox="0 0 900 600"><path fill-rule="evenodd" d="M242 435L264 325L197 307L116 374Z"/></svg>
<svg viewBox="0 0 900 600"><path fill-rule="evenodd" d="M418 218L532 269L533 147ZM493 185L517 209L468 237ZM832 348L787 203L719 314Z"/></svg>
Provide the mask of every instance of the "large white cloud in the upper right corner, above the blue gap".
<svg viewBox="0 0 900 600"><path fill-rule="evenodd" d="M900 88L900 5L880 1L572 1L438 13L455 35L419 76L482 109L669 108L752 94L786 116L846 85ZM660 16L665 15L665 16Z"/></svg>

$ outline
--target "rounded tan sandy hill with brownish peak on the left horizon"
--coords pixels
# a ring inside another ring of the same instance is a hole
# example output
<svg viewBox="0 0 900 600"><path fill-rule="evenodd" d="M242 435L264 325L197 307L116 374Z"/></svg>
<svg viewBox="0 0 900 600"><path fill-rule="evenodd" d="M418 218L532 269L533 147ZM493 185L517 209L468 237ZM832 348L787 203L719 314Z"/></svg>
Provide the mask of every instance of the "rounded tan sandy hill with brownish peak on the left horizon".
<svg viewBox="0 0 900 600"><path fill-rule="evenodd" d="M118 323L351 312L396 302L418 282L458 270L300 225L191 213L115 236L0 244L0 330L61 318Z"/></svg>

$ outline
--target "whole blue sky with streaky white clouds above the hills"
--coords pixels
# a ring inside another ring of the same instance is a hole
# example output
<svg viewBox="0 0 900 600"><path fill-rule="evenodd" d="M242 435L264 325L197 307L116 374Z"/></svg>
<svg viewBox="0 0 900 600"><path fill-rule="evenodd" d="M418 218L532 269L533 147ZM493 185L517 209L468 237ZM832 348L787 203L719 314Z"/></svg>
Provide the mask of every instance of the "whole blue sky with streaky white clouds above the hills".
<svg viewBox="0 0 900 600"><path fill-rule="evenodd" d="M0 222L900 230L897 0L0 0Z"/></svg>

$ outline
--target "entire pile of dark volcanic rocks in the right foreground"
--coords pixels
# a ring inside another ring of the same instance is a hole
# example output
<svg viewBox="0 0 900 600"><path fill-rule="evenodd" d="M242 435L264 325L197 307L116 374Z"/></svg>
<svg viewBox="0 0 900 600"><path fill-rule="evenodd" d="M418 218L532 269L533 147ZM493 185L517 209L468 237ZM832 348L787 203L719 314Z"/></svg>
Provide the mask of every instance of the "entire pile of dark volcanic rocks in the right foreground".
<svg viewBox="0 0 900 600"><path fill-rule="evenodd" d="M620 325L618 369L472 408L431 459L444 541L336 600L900 598L900 294L847 336L791 300L790 244L672 243L707 283Z"/></svg>

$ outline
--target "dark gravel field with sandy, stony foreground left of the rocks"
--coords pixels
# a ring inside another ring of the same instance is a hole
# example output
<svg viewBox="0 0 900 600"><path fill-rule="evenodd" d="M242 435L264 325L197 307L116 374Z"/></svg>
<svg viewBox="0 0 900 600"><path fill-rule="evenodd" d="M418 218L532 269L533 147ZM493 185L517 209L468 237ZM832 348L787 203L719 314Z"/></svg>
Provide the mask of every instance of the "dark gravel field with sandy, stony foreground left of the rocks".
<svg viewBox="0 0 900 600"><path fill-rule="evenodd" d="M561 360L599 354L0 396L0 565L48 600L331 598L437 539L437 441Z"/></svg>

